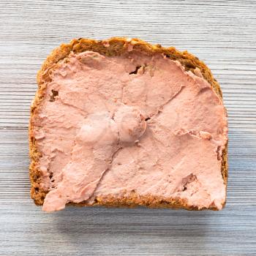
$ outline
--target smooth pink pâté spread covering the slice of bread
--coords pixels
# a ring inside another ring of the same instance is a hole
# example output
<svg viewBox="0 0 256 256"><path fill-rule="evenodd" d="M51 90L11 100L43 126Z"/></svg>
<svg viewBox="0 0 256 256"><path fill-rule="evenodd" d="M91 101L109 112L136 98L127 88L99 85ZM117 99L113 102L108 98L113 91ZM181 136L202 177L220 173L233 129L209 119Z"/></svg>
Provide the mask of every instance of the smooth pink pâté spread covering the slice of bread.
<svg viewBox="0 0 256 256"><path fill-rule="evenodd" d="M33 121L43 210L132 192L222 208L227 117L200 69L158 53L85 51L50 78Z"/></svg>

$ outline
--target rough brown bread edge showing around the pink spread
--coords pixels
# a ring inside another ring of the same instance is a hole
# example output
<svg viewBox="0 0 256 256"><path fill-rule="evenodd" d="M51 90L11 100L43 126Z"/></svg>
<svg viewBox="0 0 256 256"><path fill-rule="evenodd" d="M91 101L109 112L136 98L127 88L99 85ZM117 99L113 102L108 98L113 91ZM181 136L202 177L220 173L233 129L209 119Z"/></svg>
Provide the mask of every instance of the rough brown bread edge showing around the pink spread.
<svg viewBox="0 0 256 256"><path fill-rule="evenodd" d="M45 88L47 83L50 82L50 72L52 72L53 69L56 69L58 62L67 58L70 52L81 53L85 50L94 50L105 56L117 56L127 52L129 44L133 45L134 50L143 51L143 53L148 55L164 53L168 58L181 62L185 69L190 70L191 72L194 72L195 68L197 67L200 69L203 78L205 78L208 83L211 84L214 91L217 93L217 95L219 95L219 98L222 99L222 91L219 83L214 79L211 70L206 67L206 64L204 64L203 61L200 61L197 59L197 57L193 56L191 53L188 53L187 50L180 52L173 47L164 48L161 45L151 45L148 42L144 42L143 40L137 38L127 39L125 37L113 37L106 40L80 38L72 39L69 44L60 45L59 48L56 48L52 53L50 53L37 73L38 89L34 101L31 104L31 118L29 122L29 155L31 164L29 167L29 175L31 180L31 198L34 199L34 203L37 205L41 206L43 204L45 195L48 193L48 191L43 190L39 186L41 181L41 172L38 169L38 162L41 154L37 148L37 140L33 135L33 120L39 112L40 102L42 102L45 97ZM108 47L105 47L105 45L108 45ZM221 172L223 181L227 187L227 143L222 151ZM69 205L88 206L88 203L69 203ZM140 196L137 195L136 192L132 192L132 194L129 194L129 196L118 198L113 196L97 197L96 200L94 200L93 205L116 207L148 206L154 208L186 208L188 210L198 210L197 207L188 206L185 200L154 196ZM208 209L217 210L217 208L212 206L210 206Z"/></svg>

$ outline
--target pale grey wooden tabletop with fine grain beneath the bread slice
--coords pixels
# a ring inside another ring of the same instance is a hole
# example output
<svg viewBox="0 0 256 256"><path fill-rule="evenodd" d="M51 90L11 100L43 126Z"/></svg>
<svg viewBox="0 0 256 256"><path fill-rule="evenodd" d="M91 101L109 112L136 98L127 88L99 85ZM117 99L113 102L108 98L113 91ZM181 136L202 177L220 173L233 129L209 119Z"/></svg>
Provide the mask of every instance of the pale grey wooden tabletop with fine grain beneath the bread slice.
<svg viewBox="0 0 256 256"><path fill-rule="evenodd" d="M140 37L195 53L229 115L223 211L66 208L29 197L29 105L50 50ZM0 0L0 255L256 255L256 1Z"/></svg>

